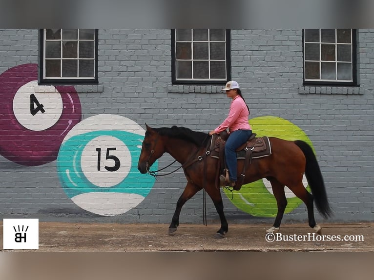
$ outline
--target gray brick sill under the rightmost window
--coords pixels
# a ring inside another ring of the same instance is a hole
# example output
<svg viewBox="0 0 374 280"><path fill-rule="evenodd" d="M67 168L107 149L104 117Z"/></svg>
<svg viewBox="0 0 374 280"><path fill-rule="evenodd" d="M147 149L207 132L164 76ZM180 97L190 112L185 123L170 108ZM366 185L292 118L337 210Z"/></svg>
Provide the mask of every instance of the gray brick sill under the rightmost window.
<svg viewBox="0 0 374 280"><path fill-rule="evenodd" d="M341 95L363 95L369 90L356 86L300 86L299 94L341 94Z"/></svg>

